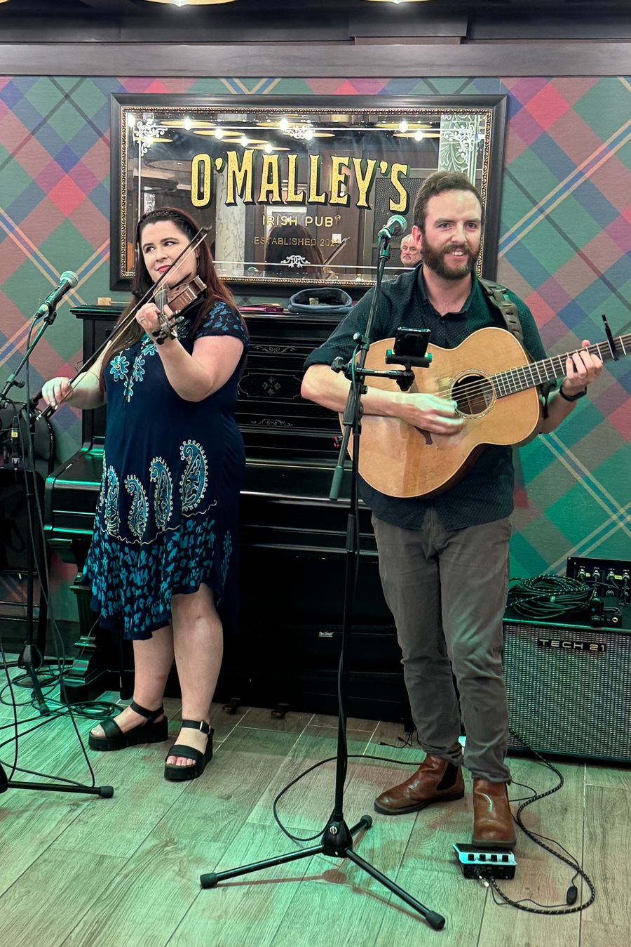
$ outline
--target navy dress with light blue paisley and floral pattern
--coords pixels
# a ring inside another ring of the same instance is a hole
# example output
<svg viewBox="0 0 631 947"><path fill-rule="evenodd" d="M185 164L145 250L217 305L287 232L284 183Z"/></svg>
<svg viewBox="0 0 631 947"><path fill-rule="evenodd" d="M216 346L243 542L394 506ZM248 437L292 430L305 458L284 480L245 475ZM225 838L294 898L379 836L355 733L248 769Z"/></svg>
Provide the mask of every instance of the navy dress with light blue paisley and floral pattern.
<svg viewBox="0 0 631 947"><path fill-rule="evenodd" d="M202 402L180 398L148 335L105 370L103 479L84 572L101 625L126 638L150 638L169 623L171 596L197 592L201 582L215 593L224 628L237 624L245 452L235 403L248 339L238 313L222 301L193 338L200 305L181 313L178 336L187 352L206 335L243 343L239 365L219 391Z"/></svg>

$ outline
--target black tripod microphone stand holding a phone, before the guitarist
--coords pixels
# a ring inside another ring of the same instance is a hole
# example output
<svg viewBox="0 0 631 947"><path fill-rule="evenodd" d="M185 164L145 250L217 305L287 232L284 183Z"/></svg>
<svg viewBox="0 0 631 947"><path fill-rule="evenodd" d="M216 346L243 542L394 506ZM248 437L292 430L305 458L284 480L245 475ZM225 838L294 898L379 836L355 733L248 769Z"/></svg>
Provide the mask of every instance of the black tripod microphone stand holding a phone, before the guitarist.
<svg viewBox="0 0 631 947"><path fill-rule="evenodd" d="M372 817L370 815L362 815L357 825L354 825L352 829L349 829L343 814L344 782L346 779L346 768L348 762L346 748L346 696L348 690L348 659L350 655L351 644L353 599L355 597L355 585L359 564L359 435L361 433L362 414L361 395L365 394L367 390L363 382L364 378L368 375L377 375L381 378L393 378L397 380L404 378L405 376L405 382L408 382L410 380L409 375L412 375L413 379L413 373L410 366L406 366L405 372L400 370L374 371L364 368L366 355L370 346L370 335L373 329L375 316L377 314L383 270L386 261L390 259L390 241L392 236L394 236L394 234L391 235L387 232L379 234L377 279L375 282L373 298L371 300L370 313L368 316L368 322L366 324L365 334L361 335L361 333L358 332L353 337L353 341L356 342L356 348L352 358L348 363L343 364L342 359L336 359L331 366L334 371L343 371L344 375L351 383L342 417L344 433L342 445L340 448L340 456L338 458L338 465L335 469L335 473L333 474L333 482L331 485L331 491L329 493L329 499L333 501L338 499L340 493L346 449L348 446L348 441L351 437L351 432L353 435L350 509L346 525L346 576L344 585L342 652L340 654L340 667L338 672L340 708L338 718L338 749L336 756L335 802L333 813L331 813L331 816L326 824L320 845L312 846L309 849L302 849L300 851L288 852L284 855L278 855L275 858L266 858L260 862L254 862L252 865L243 865L237 868L231 868L228 871L203 874L200 878L200 884L202 885L202 888L215 887L217 884L219 884L219 882L227 881L230 878L237 878L240 875L247 875L253 871L260 871L263 868L271 868L276 865L285 865L288 862L295 862L302 858L311 858L312 855L326 855L330 858L347 858L349 861L359 866L372 878L375 878L379 884L383 884L383 886L388 888L389 891L392 891L392 893L395 894L397 898L400 898L401 901L408 904L415 911L418 911L418 913L422 915L425 920L427 920L430 927L436 931L440 931L445 926L445 918L442 917L442 915L437 914L435 911L431 911L424 904L417 901L415 898L412 898L411 894L405 891L402 887L399 887L398 884L394 884L390 878L382 874L376 867L371 865L365 859L361 858L361 856L353 850L353 836L361 829L370 829L373 825ZM357 357L358 352L359 357ZM403 361L404 360L401 359L398 364L402 364ZM414 364L413 360L412 364ZM429 360L425 359L419 361L419 364L429 364Z"/></svg>

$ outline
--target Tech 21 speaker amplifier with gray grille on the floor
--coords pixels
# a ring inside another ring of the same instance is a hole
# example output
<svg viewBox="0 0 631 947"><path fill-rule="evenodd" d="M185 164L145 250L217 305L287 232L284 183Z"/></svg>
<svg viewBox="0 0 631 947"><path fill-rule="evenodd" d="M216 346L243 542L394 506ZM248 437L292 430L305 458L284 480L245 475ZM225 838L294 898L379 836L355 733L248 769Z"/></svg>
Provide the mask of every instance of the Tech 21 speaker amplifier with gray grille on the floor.
<svg viewBox="0 0 631 947"><path fill-rule="evenodd" d="M540 753L631 763L631 629L505 617L503 630L511 730Z"/></svg>

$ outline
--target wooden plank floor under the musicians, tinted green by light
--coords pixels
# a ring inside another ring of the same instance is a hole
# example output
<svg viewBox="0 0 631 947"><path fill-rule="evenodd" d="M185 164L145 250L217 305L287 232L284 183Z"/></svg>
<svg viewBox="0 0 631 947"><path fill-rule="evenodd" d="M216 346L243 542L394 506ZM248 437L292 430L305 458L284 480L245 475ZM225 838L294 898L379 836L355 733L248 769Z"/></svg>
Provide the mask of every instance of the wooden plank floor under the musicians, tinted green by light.
<svg viewBox="0 0 631 947"><path fill-rule="evenodd" d="M18 698L24 700L26 693L18 690ZM104 698L116 701L117 695ZM0 705L0 726L9 724L11 712ZM167 701L167 712L175 735L177 702ZM23 706L20 716L35 713ZM167 744L157 744L90 753L96 784L113 785L112 799L17 789L0 795L2 947L628 944L628 769L557 763L564 788L524 814L530 828L585 859L597 889L596 901L584 913L543 917L497 905L487 887L462 876L451 846L469 840L470 779L462 801L398 818L374 813L375 795L412 772L422 753L396 745L400 726L349 720L349 753L361 759L349 761L345 815L349 825L363 813L374 816L373 828L359 835L356 850L447 918L437 933L359 867L323 856L202 890L202 872L298 848L275 825L273 798L308 766L334 756L337 735L336 718L289 713L278 721L270 710L247 707L229 716L214 706L212 724L216 755L200 779L168 783L162 777ZM86 740L90 725L79 720ZM10 736L7 729L0 733L3 740ZM10 745L2 747L0 759L10 764ZM555 784L535 760L514 757L510 763L521 783L539 791ZM89 782L67 717L22 738L19 764ZM334 764L327 763L289 790L279 806L289 831L312 835L321 830L333 805L334 775ZM522 795L528 794L513 785L511 796ZM500 884L511 897L564 902L569 867L519 831L516 857L515 880Z"/></svg>

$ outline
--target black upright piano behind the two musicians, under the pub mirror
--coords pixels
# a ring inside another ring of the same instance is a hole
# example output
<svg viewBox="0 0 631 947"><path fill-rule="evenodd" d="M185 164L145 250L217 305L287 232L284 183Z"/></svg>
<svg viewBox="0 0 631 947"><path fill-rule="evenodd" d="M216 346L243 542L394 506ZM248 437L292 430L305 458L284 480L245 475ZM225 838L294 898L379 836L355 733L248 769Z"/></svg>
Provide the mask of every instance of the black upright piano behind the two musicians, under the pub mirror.
<svg viewBox="0 0 631 947"><path fill-rule="evenodd" d="M117 306L72 310L83 323L87 358L112 331ZM300 395L303 363L335 328L331 317L246 316L252 348L239 384L237 422L247 466L240 501L241 634L225 643L216 700L337 712L346 516L328 500L338 456L336 416ZM101 479L106 408L83 412L79 452L48 477L48 543L83 566ZM393 617L381 593L370 511L359 514L361 553L353 619L348 712L400 721L405 690ZM98 628L80 581L81 638L67 687L75 699L131 689L131 649ZM177 688L177 679L174 681Z"/></svg>

